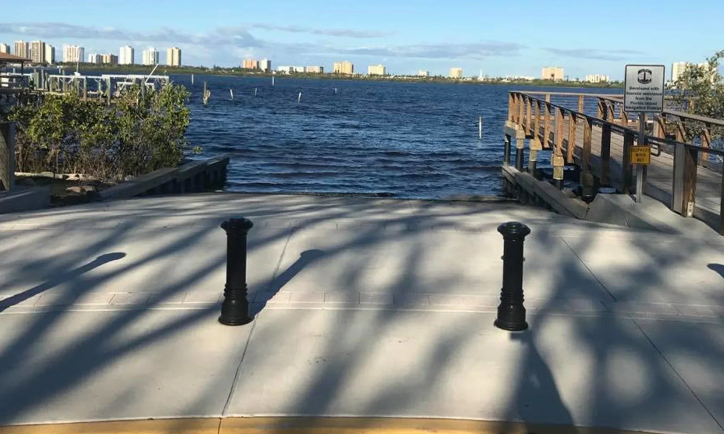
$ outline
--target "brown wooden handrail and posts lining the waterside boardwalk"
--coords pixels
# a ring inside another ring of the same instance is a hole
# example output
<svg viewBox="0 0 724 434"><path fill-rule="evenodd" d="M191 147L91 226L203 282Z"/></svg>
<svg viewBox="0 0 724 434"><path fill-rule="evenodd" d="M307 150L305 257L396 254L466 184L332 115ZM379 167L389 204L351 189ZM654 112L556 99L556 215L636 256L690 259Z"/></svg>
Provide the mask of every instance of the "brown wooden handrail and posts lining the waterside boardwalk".
<svg viewBox="0 0 724 434"><path fill-rule="evenodd" d="M537 95L546 95L546 98L539 97ZM511 90L508 97L508 121L510 122L510 128L513 128L515 132L511 133L510 130L506 132L505 138L505 151L504 164L508 165L510 162L510 147L511 137L515 135L516 143L516 161L515 166L518 170L523 170L523 149L525 145L525 138L531 138L529 160L532 161L532 166L529 166L529 171L535 171L535 158L533 148L534 142L540 149L550 148L553 155L551 158L553 166L553 178L558 188L563 188L563 167L565 163L576 163L581 167L581 170L593 174L596 171L596 175L599 176L602 184L607 182L614 182L617 189L623 193L630 193L633 187L633 172L631 164L631 156L629 150L636 143L636 137L638 137L638 131L629 127L631 122L626 117L626 112L623 109L620 111L621 121L616 122L614 115L614 107L605 101L598 101L597 116L590 116L585 114L585 98L592 97L598 98L596 94L576 94L578 95L578 110L574 108L567 108L557 103L550 102L550 97L547 97L549 93L546 92L525 92L519 90ZM621 103L623 101L613 101L614 103ZM569 104L570 105L570 104ZM535 111L535 117L531 118L531 112ZM644 135L644 142L649 145L658 145L659 149L662 146L667 148L673 147L673 173L671 190L661 190L659 187L651 187L652 195L657 197L658 200L662 200L677 213L681 213L683 216L691 217L696 216L704 219L710 225L714 226L720 234L724 235L724 179L722 184L722 195L720 196L721 204L718 216L713 214L711 208L699 207L696 205L696 183L697 183L697 167L703 166L704 168L712 169L712 173L717 176L724 176L724 173L720 171L721 165L710 160L710 156L719 156L724 158L724 150L717 148L710 148L711 144L711 126L712 125L723 125L724 120L711 119L705 116L689 115L680 111L664 111L663 116L652 116L654 119L654 135ZM669 138L671 135L665 131L668 122L665 122L665 116L679 116L679 118L689 118L695 122L704 123L707 128L702 133L702 145L698 145L694 142L684 142L686 140L686 132L683 129L682 122L675 122L676 131L675 139ZM605 119L602 119L605 118ZM576 135L580 134L578 128L583 127L583 136L576 138ZM531 129L531 123L535 124L534 129ZM508 124L507 124L508 125ZM568 134L566 135L565 127L568 126ZM601 127L600 136L597 140L599 143L599 154L596 156L595 164L592 166L592 127L596 125ZM508 127L508 126L507 126ZM519 135L521 134L522 135ZM623 156L621 156L620 163L613 164L613 158L611 155L611 135L623 135ZM581 140L582 139L582 140ZM541 143L542 142L542 143ZM565 152L564 152L564 143ZM643 143L641 143L643 144ZM580 151L580 152L579 152ZM533 169L531 169L531 167ZM611 176L611 169L616 168L615 176ZM663 166L660 166L663 167ZM585 174L584 174L585 175ZM586 175L589 176L589 175ZM582 179L586 179L583 176ZM590 178L589 176L589 179ZM704 182L711 182L710 178ZM592 184L589 184L588 188ZM584 189L585 185L582 185ZM716 187L718 189L718 187ZM706 191L705 189L704 191ZM710 190L710 189L708 189ZM669 192L670 191L670 192ZM716 197L716 196L715 196ZM713 223L712 223L713 221Z"/></svg>

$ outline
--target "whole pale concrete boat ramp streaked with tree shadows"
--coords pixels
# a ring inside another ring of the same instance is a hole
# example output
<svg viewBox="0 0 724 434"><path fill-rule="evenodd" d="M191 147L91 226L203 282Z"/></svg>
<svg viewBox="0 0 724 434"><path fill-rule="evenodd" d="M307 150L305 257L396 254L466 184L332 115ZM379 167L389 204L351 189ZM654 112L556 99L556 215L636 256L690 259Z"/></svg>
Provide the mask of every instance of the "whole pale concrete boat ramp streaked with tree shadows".
<svg viewBox="0 0 724 434"><path fill-rule="evenodd" d="M255 224L240 327L230 216ZM533 231L523 333L493 326L505 221ZM724 433L713 230L211 194L0 216L0 250L0 433Z"/></svg>

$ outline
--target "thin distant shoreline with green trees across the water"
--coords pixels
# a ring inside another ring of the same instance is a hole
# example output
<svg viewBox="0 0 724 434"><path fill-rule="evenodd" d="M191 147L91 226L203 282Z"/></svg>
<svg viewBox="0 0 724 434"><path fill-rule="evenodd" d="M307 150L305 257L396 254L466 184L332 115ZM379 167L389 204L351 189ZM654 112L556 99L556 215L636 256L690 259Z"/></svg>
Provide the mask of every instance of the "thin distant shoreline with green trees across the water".
<svg viewBox="0 0 724 434"><path fill-rule="evenodd" d="M59 66L75 69L75 64L60 64ZM93 71L93 72L105 72L105 73L117 73L117 74L150 74L153 66L146 65L99 65L99 64L80 64L80 69ZM589 83L589 82L576 82L576 81L560 81L554 82L552 80L484 80L479 81L476 79L468 80L457 80L449 77L416 77L416 76L368 76L368 75L340 75L340 74L271 74L270 72L251 72L248 70L237 69L237 68L206 68L206 67L169 67L167 65L160 65L156 68L156 74L169 75L169 74L198 74L198 75L214 75L218 77L267 77L271 78L299 78L306 80L350 80L350 81L368 81L368 82L409 82L409 83L447 83L447 84L458 84L458 85L515 85L515 86L536 86L536 87L550 87L550 88L597 88L597 89L623 89L623 82L610 82L610 83Z"/></svg>

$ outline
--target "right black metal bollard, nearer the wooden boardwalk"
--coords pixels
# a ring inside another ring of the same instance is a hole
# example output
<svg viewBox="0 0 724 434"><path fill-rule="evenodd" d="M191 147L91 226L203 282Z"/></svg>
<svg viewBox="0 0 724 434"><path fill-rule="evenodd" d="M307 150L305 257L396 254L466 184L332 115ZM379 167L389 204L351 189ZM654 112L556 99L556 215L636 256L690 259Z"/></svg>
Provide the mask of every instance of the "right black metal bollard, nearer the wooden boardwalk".
<svg viewBox="0 0 724 434"><path fill-rule="evenodd" d="M502 253L502 290L495 326L509 331L528 328L523 307L523 241L531 233L528 226L509 221L498 226L504 244Z"/></svg>

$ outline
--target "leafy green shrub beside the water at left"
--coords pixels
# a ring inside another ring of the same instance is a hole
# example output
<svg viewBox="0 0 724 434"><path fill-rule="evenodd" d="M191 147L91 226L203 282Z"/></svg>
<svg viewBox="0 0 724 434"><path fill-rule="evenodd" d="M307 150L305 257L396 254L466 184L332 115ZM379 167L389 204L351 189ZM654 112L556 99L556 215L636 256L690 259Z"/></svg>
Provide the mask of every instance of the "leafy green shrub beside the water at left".
<svg viewBox="0 0 724 434"><path fill-rule="evenodd" d="M135 87L111 106L72 93L18 106L9 114L17 122L17 170L113 180L177 166L188 150L188 95L180 85Z"/></svg>

